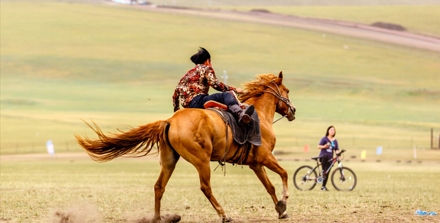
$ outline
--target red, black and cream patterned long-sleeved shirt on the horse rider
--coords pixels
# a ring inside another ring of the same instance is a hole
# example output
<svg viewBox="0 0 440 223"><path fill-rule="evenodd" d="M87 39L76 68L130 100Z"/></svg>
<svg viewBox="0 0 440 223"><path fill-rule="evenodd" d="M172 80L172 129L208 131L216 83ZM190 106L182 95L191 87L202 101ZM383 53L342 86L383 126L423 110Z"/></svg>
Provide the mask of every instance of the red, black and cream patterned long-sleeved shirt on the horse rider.
<svg viewBox="0 0 440 223"><path fill-rule="evenodd" d="M179 110L179 101L182 107L188 107L192 98L200 94L208 94L209 87L213 87L219 92L228 92L233 90L230 87L221 83L215 76L214 70L211 67L197 64L193 69L189 70L174 90L173 106L174 111Z"/></svg>

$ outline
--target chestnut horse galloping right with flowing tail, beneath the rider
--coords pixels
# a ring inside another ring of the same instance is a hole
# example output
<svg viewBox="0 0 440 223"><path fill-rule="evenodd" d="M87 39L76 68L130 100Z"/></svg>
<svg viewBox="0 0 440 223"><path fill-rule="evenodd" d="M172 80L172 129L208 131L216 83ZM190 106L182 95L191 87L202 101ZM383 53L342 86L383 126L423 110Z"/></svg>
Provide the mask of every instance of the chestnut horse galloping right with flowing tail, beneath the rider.
<svg viewBox="0 0 440 223"><path fill-rule="evenodd" d="M254 105L261 128L261 146L251 145L248 157L245 160L241 159L240 164L248 165L263 183L274 202L278 218L289 217L285 211L289 191L287 171L278 164L272 154L276 141L272 122L275 112L287 117L289 121L295 119L296 112L296 108L289 99L289 89L282 82L283 72L280 72L278 77L274 74L257 75L256 81L244 83L245 90L239 95L242 103ZM200 189L217 211L221 221L232 221L232 218L225 213L212 195L210 161L223 159L226 162L232 162L230 160L239 149L239 144L234 142L230 127L225 125L223 119L215 111L179 109L167 120L158 120L128 131L118 129L119 133L110 133L109 136L104 135L96 123L94 127L85 123L98 134L99 138L91 140L87 136L82 138L75 135L75 137L91 159L97 162L107 162L120 156L141 157L159 153L161 171L154 186L154 222L162 221L160 215L162 195L180 157L197 169ZM155 148L154 151L152 151L153 148ZM283 181L280 200L276 197L274 185L267 177L265 167L278 173Z"/></svg>

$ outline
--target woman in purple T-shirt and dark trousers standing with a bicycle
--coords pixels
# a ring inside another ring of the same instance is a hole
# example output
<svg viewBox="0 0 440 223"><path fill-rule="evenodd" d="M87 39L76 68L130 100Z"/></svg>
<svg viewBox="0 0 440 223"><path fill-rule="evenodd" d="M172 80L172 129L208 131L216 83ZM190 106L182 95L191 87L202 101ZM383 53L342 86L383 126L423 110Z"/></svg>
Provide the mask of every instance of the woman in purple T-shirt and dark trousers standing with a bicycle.
<svg viewBox="0 0 440 223"><path fill-rule="evenodd" d="M333 159L333 151L336 151L336 154L339 153L339 146L338 146L338 140L335 138L336 136L336 129L333 126L330 126L327 128L327 133L325 136L321 139L318 145L318 149L320 149L319 157L320 162L322 165L322 171L325 173L327 169L329 169L331 163L329 160ZM324 181L322 182L322 191L328 191L327 187L325 187L325 184L327 184L327 180L329 179L329 173L325 174Z"/></svg>

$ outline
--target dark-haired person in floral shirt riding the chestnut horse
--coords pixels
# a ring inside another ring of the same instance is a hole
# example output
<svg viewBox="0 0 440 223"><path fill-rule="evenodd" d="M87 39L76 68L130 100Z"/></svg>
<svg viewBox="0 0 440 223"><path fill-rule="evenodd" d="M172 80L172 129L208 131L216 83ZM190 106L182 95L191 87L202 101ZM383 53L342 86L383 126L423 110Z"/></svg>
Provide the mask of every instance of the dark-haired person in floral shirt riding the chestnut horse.
<svg viewBox="0 0 440 223"><path fill-rule="evenodd" d="M249 124L251 121L250 115L254 113L254 105L241 108L235 96L230 90L235 93L243 93L243 89L234 88L221 83L215 76L212 70L211 56L203 47L191 56L192 63L195 67L189 70L174 90L173 106L174 112L179 110L179 102L184 108L199 108L203 109L203 105L209 101L214 100L228 106L228 110L234 114L239 125ZM209 87L213 87L221 93L208 94Z"/></svg>

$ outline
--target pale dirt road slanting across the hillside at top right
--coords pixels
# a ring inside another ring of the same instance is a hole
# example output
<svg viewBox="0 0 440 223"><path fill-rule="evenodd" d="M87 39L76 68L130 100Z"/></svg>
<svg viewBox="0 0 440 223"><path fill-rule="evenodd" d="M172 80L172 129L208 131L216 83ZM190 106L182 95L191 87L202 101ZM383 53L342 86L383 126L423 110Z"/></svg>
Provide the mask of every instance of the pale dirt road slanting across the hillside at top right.
<svg viewBox="0 0 440 223"><path fill-rule="evenodd" d="M347 21L336 21L326 19L311 19L295 17L285 14L274 14L265 12L240 12L231 10L208 10L197 8L175 8L151 5L122 5L109 0L98 0L113 6L138 8L151 12L166 14L179 14L191 17L205 17L212 19L224 19L230 21L245 21L251 23L261 23L267 25L281 25L304 30L314 30L326 34L339 34L343 36L353 36L360 39L369 39L384 43L415 47L423 50L440 52L440 38L434 36L423 36L410 32L400 32L377 28L371 25L352 23Z"/></svg>

